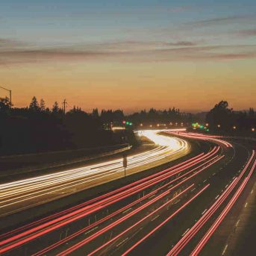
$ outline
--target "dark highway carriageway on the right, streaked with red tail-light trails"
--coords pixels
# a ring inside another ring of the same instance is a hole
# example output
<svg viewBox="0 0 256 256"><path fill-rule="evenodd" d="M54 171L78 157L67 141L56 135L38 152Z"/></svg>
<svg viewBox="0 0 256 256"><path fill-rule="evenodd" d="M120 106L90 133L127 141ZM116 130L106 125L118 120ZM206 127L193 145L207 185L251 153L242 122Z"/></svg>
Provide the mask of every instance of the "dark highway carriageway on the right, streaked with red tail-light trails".
<svg viewBox="0 0 256 256"><path fill-rule="evenodd" d="M11 228L0 235L0 254L225 255L227 237L214 234L230 232L225 228L228 214L239 209L237 201L246 199L254 184L253 146L184 131L166 131L161 137L157 132L142 131L162 145L170 136L172 152L179 150L173 143L188 145L185 140L205 144L207 150Z"/></svg>

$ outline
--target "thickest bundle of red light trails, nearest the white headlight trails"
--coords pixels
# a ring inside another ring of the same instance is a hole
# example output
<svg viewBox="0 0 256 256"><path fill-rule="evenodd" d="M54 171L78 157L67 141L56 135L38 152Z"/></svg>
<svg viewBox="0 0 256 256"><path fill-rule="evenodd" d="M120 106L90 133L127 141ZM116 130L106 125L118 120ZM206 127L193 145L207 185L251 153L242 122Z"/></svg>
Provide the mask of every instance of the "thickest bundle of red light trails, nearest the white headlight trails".
<svg viewBox="0 0 256 256"><path fill-rule="evenodd" d="M187 169L190 166L193 166L197 163L200 163L202 160L206 160L209 157L213 157L216 152L219 151L219 148L213 148L210 152L208 152L205 155L194 157L192 161L187 161L187 163L182 166L179 165L178 169L166 169L162 172L158 172L155 175L152 175L152 177L144 178L143 184L140 184L140 181L137 181L137 185L133 186L133 184L128 185L128 189L117 190L118 193L113 193L112 196L107 195L107 197L102 196L102 200L99 200L98 202L93 201L94 203L92 205L86 205L82 207L81 209L69 211L66 215L58 216L56 219L51 219L49 222L40 223L40 225L35 226L34 228L28 229L27 231L23 231L22 233L16 234L13 237L9 237L5 240L2 240L0 242L0 246L4 246L0 250L1 252L7 252L10 249L13 249L17 246L20 246L24 243L27 243L28 241L34 240L37 237L42 236L43 234L47 234L50 231L53 231L57 228L60 228L63 225L69 224L70 222L73 222L77 219L81 219L84 216L87 216L90 213L95 212L96 210L100 210L103 207L107 207L107 205L112 205L114 202L119 202L122 199L127 198L128 196L131 196L134 193L138 193L141 190L146 189L147 187L152 187L152 185L159 183L160 181L165 180L166 178L169 178L172 175L175 175L178 172L183 171L184 169ZM94 200L94 199L93 199ZM19 231L22 231L19 230ZM10 232L10 234L12 234ZM8 235L8 234L7 234ZM7 245L8 244L8 245Z"/></svg>

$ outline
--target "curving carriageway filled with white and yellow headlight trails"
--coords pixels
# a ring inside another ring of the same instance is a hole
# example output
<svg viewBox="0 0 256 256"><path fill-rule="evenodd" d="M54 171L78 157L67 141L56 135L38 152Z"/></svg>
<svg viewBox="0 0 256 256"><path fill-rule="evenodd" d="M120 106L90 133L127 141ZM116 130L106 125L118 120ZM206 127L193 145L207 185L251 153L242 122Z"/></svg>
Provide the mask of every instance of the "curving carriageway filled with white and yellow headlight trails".
<svg viewBox="0 0 256 256"><path fill-rule="evenodd" d="M126 175L148 169L189 152L185 140L158 135L157 131L140 131L157 147L128 157ZM54 172L0 184L0 216L59 199L78 191L122 178L122 158L108 160L66 171Z"/></svg>

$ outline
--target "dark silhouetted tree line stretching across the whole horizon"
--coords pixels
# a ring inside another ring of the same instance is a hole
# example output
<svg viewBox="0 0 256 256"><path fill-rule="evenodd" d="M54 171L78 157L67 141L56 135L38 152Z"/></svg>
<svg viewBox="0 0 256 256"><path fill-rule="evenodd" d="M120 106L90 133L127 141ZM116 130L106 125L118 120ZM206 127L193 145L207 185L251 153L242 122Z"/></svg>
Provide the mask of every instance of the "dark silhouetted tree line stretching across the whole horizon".
<svg viewBox="0 0 256 256"><path fill-rule="evenodd" d="M33 97L28 107L10 107L8 98L0 98L0 154L25 154L49 152L64 149L81 149L96 146L110 146L119 143L136 143L132 130L143 124L169 125L170 122L189 126L197 121L195 114L182 113L172 107L167 110L141 110L125 116L122 110L97 108L86 113L74 106L64 113L54 102L46 107L43 99ZM113 125L122 125L124 120L133 125L125 131L113 132ZM199 120L202 121L202 120ZM248 111L234 111L228 102L216 104L207 115L205 122L210 131L255 131L256 114Z"/></svg>

